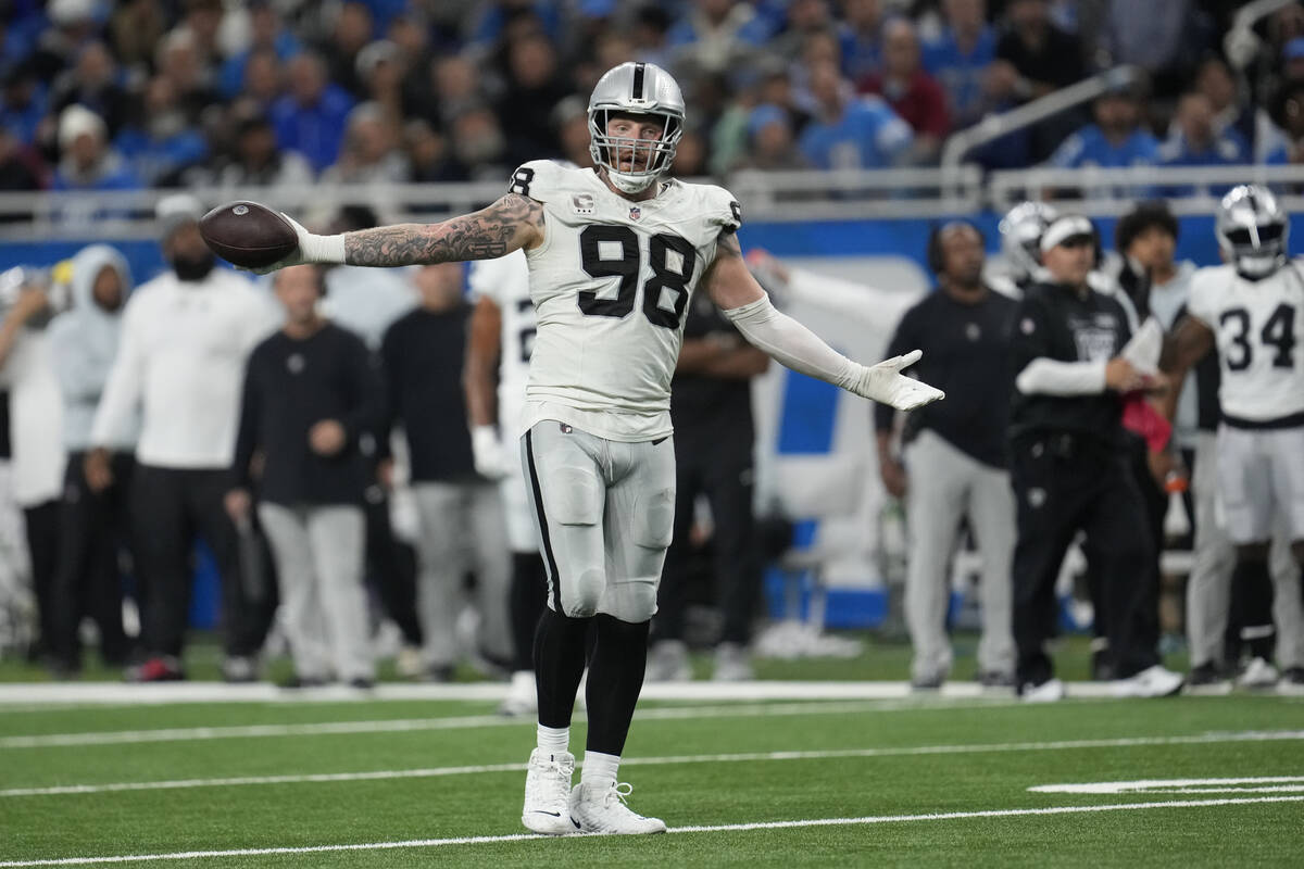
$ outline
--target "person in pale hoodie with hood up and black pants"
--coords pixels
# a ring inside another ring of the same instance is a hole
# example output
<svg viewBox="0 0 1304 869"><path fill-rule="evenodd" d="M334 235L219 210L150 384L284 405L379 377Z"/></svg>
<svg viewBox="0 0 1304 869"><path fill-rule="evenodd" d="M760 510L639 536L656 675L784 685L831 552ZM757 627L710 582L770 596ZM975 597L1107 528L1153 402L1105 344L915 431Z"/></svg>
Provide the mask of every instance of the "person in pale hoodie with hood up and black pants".
<svg viewBox="0 0 1304 869"><path fill-rule="evenodd" d="M50 324L50 349L63 395L63 444L68 451L60 504L59 559L51 595L51 664L60 675L81 670L78 627L83 615L99 625L106 663L123 666L129 641L123 631L119 551L129 545L126 491L138 423L115 433L110 448L112 481L89 485L83 470L95 406L117 356L123 306L132 272L108 245L82 249L72 261L73 306Z"/></svg>

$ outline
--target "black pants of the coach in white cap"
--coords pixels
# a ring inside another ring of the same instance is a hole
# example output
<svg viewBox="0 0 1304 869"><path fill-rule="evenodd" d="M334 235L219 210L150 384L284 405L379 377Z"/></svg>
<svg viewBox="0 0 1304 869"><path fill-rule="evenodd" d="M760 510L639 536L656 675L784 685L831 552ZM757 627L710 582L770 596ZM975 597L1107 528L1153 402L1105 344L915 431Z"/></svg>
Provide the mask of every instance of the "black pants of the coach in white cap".
<svg viewBox="0 0 1304 869"><path fill-rule="evenodd" d="M1041 684L1054 675L1046 641L1059 616L1055 580L1080 529L1097 542L1091 550L1102 577L1115 677L1158 663L1150 524L1127 451L1063 433L1028 435L1013 446L1011 478L1018 500L1013 565L1018 684Z"/></svg>

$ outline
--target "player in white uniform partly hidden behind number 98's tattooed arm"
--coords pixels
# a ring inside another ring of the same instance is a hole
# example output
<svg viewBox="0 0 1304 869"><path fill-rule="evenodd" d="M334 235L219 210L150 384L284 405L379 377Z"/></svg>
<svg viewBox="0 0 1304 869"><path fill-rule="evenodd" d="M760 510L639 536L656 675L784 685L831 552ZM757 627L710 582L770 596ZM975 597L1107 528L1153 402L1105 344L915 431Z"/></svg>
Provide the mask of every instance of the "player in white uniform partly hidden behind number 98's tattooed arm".
<svg viewBox="0 0 1304 869"><path fill-rule="evenodd" d="M548 578L539 552L539 533L529 512L526 476L515 440L526 404L529 356L535 349L535 304L529 298L529 263L516 250L471 266L471 340L463 383L471 420L471 447L476 470L498 481L511 547L509 610L515 648L511 684L499 706L505 715L524 715L537 707L533 637L546 606Z"/></svg>

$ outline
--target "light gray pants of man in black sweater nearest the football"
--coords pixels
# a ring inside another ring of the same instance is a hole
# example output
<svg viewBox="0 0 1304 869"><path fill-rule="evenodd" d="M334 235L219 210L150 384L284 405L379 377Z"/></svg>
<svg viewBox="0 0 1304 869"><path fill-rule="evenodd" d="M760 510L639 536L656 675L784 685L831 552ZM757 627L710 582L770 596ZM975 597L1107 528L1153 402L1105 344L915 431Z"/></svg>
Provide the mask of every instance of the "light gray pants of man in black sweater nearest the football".
<svg viewBox="0 0 1304 869"><path fill-rule="evenodd" d="M373 679L361 507L258 504L280 582L280 607L301 679Z"/></svg>

